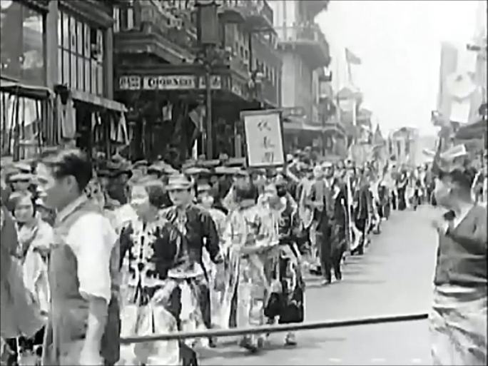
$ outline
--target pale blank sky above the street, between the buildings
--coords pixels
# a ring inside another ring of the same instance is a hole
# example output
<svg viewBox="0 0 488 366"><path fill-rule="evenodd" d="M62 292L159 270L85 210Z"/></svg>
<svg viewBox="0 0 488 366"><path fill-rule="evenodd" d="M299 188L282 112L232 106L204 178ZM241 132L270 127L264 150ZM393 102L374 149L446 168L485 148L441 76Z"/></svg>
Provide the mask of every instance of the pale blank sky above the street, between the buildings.
<svg viewBox="0 0 488 366"><path fill-rule="evenodd" d="M332 85L347 83L347 47L362 61L352 80L383 134L402 126L434 134L441 42L467 44L476 14L474 0L332 0L316 19L330 44Z"/></svg>

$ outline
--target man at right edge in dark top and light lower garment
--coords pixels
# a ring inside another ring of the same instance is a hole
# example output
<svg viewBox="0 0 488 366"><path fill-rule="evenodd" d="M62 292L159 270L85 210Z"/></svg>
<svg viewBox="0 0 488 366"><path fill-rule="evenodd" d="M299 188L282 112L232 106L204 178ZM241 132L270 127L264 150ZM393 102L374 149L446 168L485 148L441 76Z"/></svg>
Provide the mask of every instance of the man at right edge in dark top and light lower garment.
<svg viewBox="0 0 488 366"><path fill-rule="evenodd" d="M448 167L436 180L439 233L430 314L434 365L487 365L487 208L471 197L472 176Z"/></svg>

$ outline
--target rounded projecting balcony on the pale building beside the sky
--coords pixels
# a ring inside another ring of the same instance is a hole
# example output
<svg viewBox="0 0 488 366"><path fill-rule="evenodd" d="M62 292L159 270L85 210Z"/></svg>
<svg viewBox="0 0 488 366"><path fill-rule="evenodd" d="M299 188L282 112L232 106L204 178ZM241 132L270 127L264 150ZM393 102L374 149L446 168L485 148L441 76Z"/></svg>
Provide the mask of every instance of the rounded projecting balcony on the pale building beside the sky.
<svg viewBox="0 0 488 366"><path fill-rule="evenodd" d="M284 26L275 29L278 33L278 48L283 51L298 51L312 68L328 66L329 44L317 24Z"/></svg>

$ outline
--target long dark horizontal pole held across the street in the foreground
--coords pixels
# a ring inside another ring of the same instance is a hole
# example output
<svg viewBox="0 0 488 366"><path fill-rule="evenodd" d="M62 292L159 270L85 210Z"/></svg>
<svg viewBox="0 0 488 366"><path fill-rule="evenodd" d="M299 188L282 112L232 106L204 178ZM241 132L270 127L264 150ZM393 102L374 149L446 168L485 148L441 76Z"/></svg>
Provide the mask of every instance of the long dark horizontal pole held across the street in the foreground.
<svg viewBox="0 0 488 366"><path fill-rule="evenodd" d="M409 322L427 319L427 313L410 315L390 315L384 317L366 317L352 320L325 320L322 322L302 322L279 325L263 325L249 328L208 329L198 332L173 332L158 335L142 335L138 337L122 337L121 344L154 342L156 340L184 340L200 337L235 337L247 334L293 332L296 330L316 330L322 328L352 327L355 325L372 325L387 322Z"/></svg>

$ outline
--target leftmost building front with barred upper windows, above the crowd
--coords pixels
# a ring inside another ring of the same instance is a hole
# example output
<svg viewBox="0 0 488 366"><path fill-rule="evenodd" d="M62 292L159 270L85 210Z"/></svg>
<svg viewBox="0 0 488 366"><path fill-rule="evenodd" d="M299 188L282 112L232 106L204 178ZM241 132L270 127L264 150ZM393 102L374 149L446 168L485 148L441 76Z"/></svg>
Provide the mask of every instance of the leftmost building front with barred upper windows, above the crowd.
<svg viewBox="0 0 488 366"><path fill-rule="evenodd" d="M111 153L124 106L113 100L113 4L1 1L2 153L63 143ZM120 135L120 136L118 136Z"/></svg>

